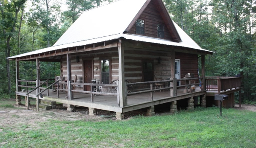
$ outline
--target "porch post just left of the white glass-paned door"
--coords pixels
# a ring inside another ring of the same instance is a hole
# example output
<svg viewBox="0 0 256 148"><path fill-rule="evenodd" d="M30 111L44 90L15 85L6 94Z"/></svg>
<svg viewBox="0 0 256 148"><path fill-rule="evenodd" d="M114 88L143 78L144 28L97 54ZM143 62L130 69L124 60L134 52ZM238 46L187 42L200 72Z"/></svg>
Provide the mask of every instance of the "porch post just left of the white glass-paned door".
<svg viewBox="0 0 256 148"><path fill-rule="evenodd" d="M176 84L174 84L175 82L175 52L171 51L171 80L173 80L170 84L170 87L173 87L171 89L171 97L176 96Z"/></svg>

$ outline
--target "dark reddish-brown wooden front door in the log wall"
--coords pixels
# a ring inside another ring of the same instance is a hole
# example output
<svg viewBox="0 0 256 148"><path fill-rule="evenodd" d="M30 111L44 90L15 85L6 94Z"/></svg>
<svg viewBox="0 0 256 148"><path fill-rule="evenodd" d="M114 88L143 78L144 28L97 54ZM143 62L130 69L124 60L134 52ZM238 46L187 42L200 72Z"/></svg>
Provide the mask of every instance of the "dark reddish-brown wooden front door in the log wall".
<svg viewBox="0 0 256 148"><path fill-rule="evenodd" d="M84 83L91 83L92 60L84 60ZM85 86L85 91L91 91L91 86Z"/></svg>

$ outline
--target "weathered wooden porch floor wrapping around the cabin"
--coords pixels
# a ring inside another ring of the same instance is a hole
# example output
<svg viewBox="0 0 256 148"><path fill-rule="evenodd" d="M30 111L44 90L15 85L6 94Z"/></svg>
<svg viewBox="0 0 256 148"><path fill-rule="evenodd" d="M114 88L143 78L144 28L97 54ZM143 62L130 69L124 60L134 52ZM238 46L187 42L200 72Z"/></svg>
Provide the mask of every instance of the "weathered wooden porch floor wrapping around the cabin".
<svg viewBox="0 0 256 148"><path fill-rule="evenodd" d="M26 96L26 92L16 92L17 95ZM46 93L44 93L46 94ZM125 113L132 110L138 110L145 107L150 107L157 104L164 104L167 102L173 102L175 100L186 99L193 96L200 96L206 94L206 91L201 91L200 87L197 87L196 90L192 93L183 93L183 89L177 90L177 96L171 97L170 91L157 91L153 92L153 101L150 100L150 93L141 93L136 95L127 96L128 104L125 107L119 107L117 103L117 96L104 96L97 95L94 96L94 102L91 102L91 94L86 93L74 93L74 99L66 99L67 93L60 92L59 98L57 93L49 91L49 96L44 95L43 98L46 100L52 100L59 103L73 104L83 107L92 107L101 110L109 110L119 113ZM29 97L36 98L35 93L30 93Z"/></svg>

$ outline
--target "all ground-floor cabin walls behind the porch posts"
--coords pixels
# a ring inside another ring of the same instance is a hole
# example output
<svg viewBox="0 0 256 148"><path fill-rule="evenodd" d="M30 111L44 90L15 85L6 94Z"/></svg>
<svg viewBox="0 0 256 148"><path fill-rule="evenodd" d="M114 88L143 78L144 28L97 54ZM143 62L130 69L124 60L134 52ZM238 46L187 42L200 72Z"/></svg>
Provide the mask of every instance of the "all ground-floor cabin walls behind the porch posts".
<svg viewBox="0 0 256 148"><path fill-rule="evenodd" d="M131 83L143 81L142 75L142 64L143 62L153 62L153 75L158 80L167 80L171 78L171 53L164 51L153 51L147 49L135 49L124 47L124 76L125 79L129 80ZM197 55L176 52L176 59L180 59L180 69L181 69L181 78L187 73L194 73L195 77L198 77L198 61ZM77 63L76 57L79 56L79 62ZM112 77L109 82L118 78L118 50L117 49L108 49L100 50L94 53L80 53L79 55L71 56L71 73L72 80L74 80L75 75L77 75L77 82L83 83L83 60L93 59L93 70L94 75L92 78L97 80L97 83L100 82L100 59L102 58L111 58L112 66ZM158 63L159 57L162 60L162 63ZM66 56L62 56L61 62L61 71L62 71L62 80L67 79L67 61ZM182 82L183 84L184 82ZM198 82L195 82L198 83ZM133 88L143 89L141 88ZM76 85L76 90L83 90L83 86Z"/></svg>

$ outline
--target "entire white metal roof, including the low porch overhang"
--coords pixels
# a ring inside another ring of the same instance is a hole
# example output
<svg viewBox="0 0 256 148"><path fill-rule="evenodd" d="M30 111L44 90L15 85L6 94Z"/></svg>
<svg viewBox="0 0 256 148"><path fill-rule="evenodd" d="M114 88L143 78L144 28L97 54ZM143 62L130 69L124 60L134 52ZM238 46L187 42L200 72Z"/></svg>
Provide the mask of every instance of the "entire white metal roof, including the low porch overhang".
<svg viewBox="0 0 256 148"><path fill-rule="evenodd" d="M124 33L124 30L127 29L127 26L132 22L146 1L147 0L118 0L85 11L53 46L21 55L15 55L8 59L40 54L57 49L94 44L121 37L135 41L182 46L212 52L198 46L176 23L174 23L174 25L182 40L180 43Z"/></svg>

